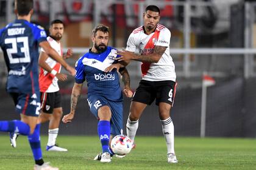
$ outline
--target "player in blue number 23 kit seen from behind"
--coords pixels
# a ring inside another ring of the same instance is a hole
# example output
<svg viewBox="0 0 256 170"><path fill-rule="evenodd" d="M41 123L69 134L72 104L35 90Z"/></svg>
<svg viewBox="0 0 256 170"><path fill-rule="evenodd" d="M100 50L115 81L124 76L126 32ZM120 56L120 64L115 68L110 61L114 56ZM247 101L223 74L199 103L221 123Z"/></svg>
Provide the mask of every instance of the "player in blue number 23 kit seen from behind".
<svg viewBox="0 0 256 170"><path fill-rule="evenodd" d="M34 169L58 169L44 163L40 146L38 46L72 75L75 70L51 48L46 32L30 23L33 5L33 0L15 0L17 19L0 30L0 46L8 69L6 90L12 95L15 110L21 116L21 120L0 121L0 131L10 132L11 140L15 133L28 137L35 160Z"/></svg>

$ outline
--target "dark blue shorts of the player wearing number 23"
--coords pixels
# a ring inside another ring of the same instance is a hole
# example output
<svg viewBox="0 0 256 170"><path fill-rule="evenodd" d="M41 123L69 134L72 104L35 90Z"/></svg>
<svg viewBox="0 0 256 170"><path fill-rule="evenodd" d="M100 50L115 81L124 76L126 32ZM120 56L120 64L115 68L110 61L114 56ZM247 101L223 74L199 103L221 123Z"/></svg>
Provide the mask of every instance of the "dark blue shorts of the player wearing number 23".
<svg viewBox="0 0 256 170"><path fill-rule="evenodd" d="M19 94L10 93L15 104L15 110L18 114L32 117L38 117L40 114L40 93Z"/></svg>

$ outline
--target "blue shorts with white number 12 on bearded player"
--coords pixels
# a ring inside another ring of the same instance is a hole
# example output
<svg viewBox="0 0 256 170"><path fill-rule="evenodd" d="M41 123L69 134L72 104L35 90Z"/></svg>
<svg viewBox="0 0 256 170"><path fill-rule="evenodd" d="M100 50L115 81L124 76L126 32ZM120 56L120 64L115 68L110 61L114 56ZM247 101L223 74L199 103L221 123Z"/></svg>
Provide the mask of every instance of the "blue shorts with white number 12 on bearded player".
<svg viewBox="0 0 256 170"><path fill-rule="evenodd" d="M110 107L112 117L110 120L111 134L120 135L123 131L123 101L109 101L99 95L88 95L87 103L91 113L98 118L98 109L102 106Z"/></svg>

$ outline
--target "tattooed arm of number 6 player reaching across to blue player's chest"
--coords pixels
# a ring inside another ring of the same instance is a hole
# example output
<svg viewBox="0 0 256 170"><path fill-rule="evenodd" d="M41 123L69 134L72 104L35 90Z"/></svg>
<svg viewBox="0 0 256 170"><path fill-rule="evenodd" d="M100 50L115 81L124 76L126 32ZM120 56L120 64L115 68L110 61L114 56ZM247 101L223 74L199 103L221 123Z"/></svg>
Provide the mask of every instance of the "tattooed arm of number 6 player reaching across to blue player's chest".
<svg viewBox="0 0 256 170"><path fill-rule="evenodd" d="M116 54L121 55L121 57L116 58L116 60L118 61L136 60L136 61L148 62L148 63L158 63L163 53L165 53L166 48L167 47L163 47L163 46L155 46L154 52L149 55L137 55L127 50L118 51Z"/></svg>

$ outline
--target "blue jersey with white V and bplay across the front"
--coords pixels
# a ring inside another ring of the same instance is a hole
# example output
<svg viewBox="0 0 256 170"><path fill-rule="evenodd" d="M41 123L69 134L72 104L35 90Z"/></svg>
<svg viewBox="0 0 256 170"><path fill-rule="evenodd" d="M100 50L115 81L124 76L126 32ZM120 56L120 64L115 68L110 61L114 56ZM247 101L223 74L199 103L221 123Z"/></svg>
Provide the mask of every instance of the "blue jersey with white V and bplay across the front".
<svg viewBox="0 0 256 170"><path fill-rule="evenodd" d="M76 83L87 81L88 97L100 95L110 101L123 101L118 72L104 72L105 68L116 63L116 49L107 47L105 52L89 51L76 62Z"/></svg>

